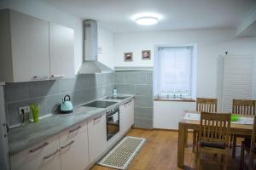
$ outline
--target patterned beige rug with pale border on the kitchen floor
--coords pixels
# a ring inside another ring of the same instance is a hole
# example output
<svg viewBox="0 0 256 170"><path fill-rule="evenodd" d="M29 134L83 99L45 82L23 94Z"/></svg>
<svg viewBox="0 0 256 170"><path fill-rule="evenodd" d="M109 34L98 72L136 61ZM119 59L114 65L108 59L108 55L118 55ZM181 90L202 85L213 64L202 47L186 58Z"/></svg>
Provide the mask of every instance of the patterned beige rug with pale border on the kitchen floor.
<svg viewBox="0 0 256 170"><path fill-rule="evenodd" d="M143 138L126 136L98 164L104 167L126 169L145 141L146 139Z"/></svg>

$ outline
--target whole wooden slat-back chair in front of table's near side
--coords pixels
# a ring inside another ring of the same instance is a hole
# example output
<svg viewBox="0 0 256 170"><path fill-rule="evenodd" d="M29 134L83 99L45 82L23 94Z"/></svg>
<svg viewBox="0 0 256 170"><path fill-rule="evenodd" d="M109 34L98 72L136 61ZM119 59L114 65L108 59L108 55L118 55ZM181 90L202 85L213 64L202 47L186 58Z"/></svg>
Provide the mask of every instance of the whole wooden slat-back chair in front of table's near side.
<svg viewBox="0 0 256 170"><path fill-rule="evenodd" d="M197 169L201 168L201 153L220 154L224 169L228 166L231 114L201 112L196 149ZM215 161L210 161L215 162Z"/></svg>

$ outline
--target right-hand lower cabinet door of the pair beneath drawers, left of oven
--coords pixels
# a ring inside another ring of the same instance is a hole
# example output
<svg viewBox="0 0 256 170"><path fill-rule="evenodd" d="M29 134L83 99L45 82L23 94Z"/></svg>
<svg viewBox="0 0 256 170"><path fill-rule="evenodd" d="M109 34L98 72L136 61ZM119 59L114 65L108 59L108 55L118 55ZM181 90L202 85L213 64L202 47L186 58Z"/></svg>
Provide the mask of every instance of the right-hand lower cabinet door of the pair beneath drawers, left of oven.
<svg viewBox="0 0 256 170"><path fill-rule="evenodd" d="M83 170L89 166L87 129L61 144L61 170Z"/></svg>

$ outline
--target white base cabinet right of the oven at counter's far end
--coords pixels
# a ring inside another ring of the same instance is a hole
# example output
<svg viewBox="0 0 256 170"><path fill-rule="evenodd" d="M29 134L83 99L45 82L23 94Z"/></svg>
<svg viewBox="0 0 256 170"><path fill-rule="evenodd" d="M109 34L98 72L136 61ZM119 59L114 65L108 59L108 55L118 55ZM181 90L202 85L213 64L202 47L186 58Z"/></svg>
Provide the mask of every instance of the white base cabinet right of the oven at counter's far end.
<svg viewBox="0 0 256 170"><path fill-rule="evenodd" d="M134 124L134 100L131 99L119 106L120 111L120 133L126 133Z"/></svg>

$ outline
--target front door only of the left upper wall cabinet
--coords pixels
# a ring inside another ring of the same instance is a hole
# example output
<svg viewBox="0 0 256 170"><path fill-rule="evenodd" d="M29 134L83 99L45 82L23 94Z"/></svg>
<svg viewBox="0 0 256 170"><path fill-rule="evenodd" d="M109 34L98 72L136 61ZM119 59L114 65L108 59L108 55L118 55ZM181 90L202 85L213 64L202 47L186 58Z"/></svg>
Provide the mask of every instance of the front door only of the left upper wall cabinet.
<svg viewBox="0 0 256 170"><path fill-rule="evenodd" d="M49 77L49 22L10 10L14 82Z"/></svg>

